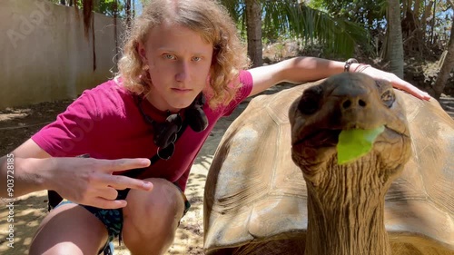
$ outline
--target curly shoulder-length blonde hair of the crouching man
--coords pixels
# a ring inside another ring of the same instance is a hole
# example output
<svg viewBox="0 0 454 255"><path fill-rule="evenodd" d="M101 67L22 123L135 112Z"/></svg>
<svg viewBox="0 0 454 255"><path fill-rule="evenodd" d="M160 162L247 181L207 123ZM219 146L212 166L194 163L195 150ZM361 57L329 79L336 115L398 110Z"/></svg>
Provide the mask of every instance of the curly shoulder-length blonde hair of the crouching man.
<svg viewBox="0 0 454 255"><path fill-rule="evenodd" d="M133 93L150 92L138 45L145 44L153 27L164 22L183 25L213 45L209 105L215 109L231 102L240 86L235 83L240 70L250 62L232 17L213 0L151 0L143 6L143 14L134 19L127 34L118 64L123 85Z"/></svg>

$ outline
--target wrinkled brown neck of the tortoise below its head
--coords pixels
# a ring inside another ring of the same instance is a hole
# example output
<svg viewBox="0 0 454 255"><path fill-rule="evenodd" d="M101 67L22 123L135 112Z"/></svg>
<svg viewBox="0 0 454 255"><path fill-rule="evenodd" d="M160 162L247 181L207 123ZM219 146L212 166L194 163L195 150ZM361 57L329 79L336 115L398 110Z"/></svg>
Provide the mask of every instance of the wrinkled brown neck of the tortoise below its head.
<svg viewBox="0 0 454 255"><path fill-rule="evenodd" d="M368 172L337 168L321 185L308 181L305 254L390 255L384 197L391 181Z"/></svg>

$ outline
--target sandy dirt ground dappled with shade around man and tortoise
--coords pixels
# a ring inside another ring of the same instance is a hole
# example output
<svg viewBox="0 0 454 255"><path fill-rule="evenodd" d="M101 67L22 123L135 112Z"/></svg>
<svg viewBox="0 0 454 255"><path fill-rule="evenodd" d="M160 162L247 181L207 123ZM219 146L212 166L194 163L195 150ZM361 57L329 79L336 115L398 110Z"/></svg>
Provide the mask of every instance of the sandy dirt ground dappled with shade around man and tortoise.
<svg viewBox="0 0 454 255"><path fill-rule="evenodd" d="M265 93L275 93L287 87L288 85L276 86ZM64 112L69 103L72 103L72 100L39 103L0 111L0 155L11 152L46 123L53 122L55 116ZM230 123L242 113L247 103L242 103L231 116L223 118L216 124L208 141L205 142L202 151L199 153L192 167L186 190L192 208L183 218L177 230L175 241L167 254L203 254L202 200L206 173L212 162L213 153L221 141L222 134ZM441 103L454 118L454 98L445 97L441 100ZM6 220L8 210L5 207L5 202L0 201L0 254L27 254L35 230L47 213L46 202L47 198L44 191L29 194L15 201L15 243L14 248L8 248L5 239L8 235L9 223ZM118 247L117 240L115 240L115 245L115 254L130 254L123 246Z"/></svg>

